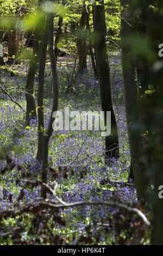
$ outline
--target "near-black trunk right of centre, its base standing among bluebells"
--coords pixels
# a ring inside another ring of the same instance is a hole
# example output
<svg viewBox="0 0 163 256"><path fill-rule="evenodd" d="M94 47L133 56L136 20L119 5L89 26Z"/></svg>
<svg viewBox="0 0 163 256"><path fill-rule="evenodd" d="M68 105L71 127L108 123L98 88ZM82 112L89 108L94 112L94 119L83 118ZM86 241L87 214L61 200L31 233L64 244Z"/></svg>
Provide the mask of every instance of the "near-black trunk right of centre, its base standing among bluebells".
<svg viewBox="0 0 163 256"><path fill-rule="evenodd" d="M102 2L102 5L93 5L93 16L94 31L96 35L95 46L101 93L101 104L102 111L105 113L105 124L106 111L111 112L111 135L105 137L105 151L107 157L118 157L118 132L114 108L112 106L110 67L105 42L106 25L104 15L104 2Z"/></svg>

